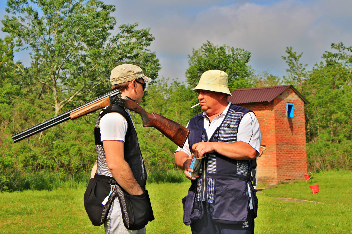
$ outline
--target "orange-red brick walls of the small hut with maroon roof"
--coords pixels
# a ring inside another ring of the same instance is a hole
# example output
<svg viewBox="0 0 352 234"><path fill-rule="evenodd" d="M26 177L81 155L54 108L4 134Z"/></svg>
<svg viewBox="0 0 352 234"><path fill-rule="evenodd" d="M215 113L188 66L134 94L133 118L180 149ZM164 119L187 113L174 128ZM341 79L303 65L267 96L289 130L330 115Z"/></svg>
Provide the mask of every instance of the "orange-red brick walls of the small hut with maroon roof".
<svg viewBox="0 0 352 234"><path fill-rule="evenodd" d="M287 118L286 104L294 105L294 118ZM287 89L272 102L246 103L257 116L266 145L257 159L258 183L269 185L281 181L303 180L307 172L304 102Z"/></svg>

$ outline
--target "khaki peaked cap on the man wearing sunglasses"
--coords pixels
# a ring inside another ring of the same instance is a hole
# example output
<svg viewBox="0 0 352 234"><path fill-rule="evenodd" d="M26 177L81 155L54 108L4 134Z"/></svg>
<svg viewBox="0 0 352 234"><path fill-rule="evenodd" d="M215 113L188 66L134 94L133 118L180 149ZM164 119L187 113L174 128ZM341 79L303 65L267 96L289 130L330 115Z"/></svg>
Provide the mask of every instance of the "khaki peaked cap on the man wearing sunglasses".
<svg viewBox="0 0 352 234"><path fill-rule="evenodd" d="M152 81L151 78L144 75L142 68L133 64L121 64L111 70L110 82L117 85L131 80L143 78L145 81Z"/></svg>

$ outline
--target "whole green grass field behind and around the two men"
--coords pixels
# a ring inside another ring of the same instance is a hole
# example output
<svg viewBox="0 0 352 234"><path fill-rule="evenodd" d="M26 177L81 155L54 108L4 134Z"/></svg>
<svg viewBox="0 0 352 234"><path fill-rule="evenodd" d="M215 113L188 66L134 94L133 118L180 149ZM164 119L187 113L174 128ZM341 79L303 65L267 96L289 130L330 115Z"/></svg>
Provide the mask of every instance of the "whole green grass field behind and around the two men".
<svg viewBox="0 0 352 234"><path fill-rule="evenodd" d="M309 181L262 190L255 233L352 233L351 181L352 172L323 172L313 178L319 193L311 192ZM155 216L147 233L191 232L182 223L188 187L188 182L147 185ZM0 233L104 233L88 219L84 190L0 193Z"/></svg>

